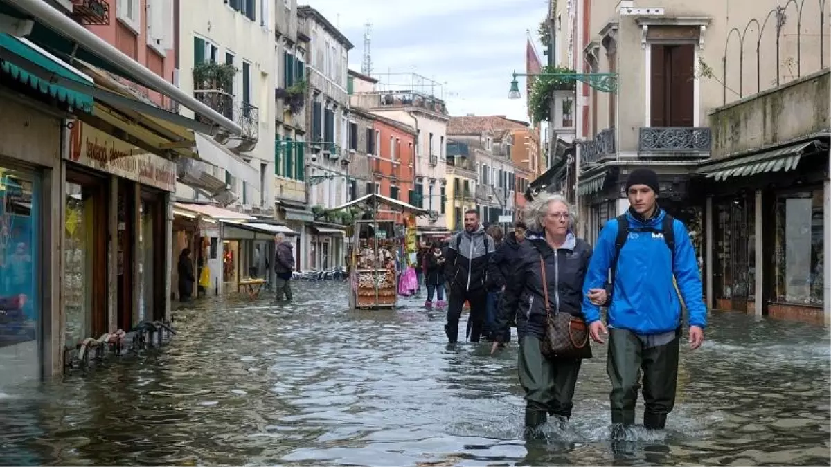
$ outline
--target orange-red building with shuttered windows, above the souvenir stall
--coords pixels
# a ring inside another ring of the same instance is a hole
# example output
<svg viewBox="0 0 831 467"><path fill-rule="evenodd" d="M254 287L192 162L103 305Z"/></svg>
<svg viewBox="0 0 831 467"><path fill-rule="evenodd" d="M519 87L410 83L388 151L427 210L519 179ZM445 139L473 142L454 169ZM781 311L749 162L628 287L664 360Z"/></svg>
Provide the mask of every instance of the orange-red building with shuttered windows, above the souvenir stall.
<svg viewBox="0 0 831 467"><path fill-rule="evenodd" d="M370 156L370 178L375 192L409 204L416 204L416 129L386 117L372 115L375 147ZM417 204L416 204L417 205ZM380 219L404 222L401 214L382 212Z"/></svg>

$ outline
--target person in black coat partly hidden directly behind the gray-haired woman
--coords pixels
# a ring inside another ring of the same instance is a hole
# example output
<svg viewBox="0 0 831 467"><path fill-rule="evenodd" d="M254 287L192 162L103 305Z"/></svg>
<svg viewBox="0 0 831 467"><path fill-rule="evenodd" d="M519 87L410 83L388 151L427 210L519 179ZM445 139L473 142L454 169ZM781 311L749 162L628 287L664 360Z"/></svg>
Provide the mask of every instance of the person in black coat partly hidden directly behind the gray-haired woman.
<svg viewBox="0 0 831 467"><path fill-rule="evenodd" d="M502 299L502 293L508 283L508 278L514 273L514 263L519 258L519 247L525 239L526 230L528 230L528 226L523 221L515 222L514 232L505 237L496 253L490 257L488 264L488 312L485 327L488 331L487 338L491 342L495 339L496 311L499 307L499 301ZM510 340L511 330L508 327L505 329L504 338L501 342L510 342Z"/></svg>

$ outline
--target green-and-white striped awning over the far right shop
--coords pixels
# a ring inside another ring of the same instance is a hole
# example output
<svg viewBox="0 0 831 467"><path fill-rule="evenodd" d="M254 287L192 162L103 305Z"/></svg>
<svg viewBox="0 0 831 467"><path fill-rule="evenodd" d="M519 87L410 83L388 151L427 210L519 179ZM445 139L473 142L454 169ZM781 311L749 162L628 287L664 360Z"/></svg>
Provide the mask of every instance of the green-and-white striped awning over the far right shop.
<svg viewBox="0 0 831 467"><path fill-rule="evenodd" d="M750 177L767 172L787 172L796 169L803 155L814 152L816 143L816 140L810 140L754 155L711 163L700 167L696 173L720 181L730 177Z"/></svg>

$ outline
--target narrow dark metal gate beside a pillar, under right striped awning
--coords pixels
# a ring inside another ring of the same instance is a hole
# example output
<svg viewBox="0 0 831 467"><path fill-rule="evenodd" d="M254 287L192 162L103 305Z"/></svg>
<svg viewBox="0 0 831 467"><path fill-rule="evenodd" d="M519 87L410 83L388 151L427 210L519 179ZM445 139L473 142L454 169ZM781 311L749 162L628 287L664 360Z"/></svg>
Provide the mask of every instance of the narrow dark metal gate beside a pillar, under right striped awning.
<svg viewBox="0 0 831 467"><path fill-rule="evenodd" d="M745 197L736 198L730 203L728 219L730 258L727 268L733 283L730 284L730 307L735 311L746 312L750 297L750 219L753 204Z"/></svg>

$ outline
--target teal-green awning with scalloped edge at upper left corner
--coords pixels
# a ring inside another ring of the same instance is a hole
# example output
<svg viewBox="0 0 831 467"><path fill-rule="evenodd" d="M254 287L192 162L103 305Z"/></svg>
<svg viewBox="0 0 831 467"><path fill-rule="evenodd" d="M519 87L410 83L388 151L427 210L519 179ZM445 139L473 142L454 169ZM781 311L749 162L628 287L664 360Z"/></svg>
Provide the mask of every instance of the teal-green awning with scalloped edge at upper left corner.
<svg viewBox="0 0 831 467"><path fill-rule="evenodd" d="M73 107L79 111L92 113L93 98L91 94L85 94L78 91L71 91L63 86L57 86L35 76L26 70L27 63L38 66L43 70L50 71L57 76L76 81L79 84L90 86L92 89L93 82L86 76L81 75L78 71L73 71L71 66L66 65L54 57L50 57L47 52L37 50L37 48L22 42L17 37L9 36L8 34L0 34L0 48L4 51L13 54L12 60L8 60L9 53L0 56L0 70L12 76L17 81L22 82L32 89L42 92L47 96L52 96L60 102ZM0 51L2 52L2 51ZM19 59L19 60L18 60ZM14 61L12 63L12 61Z"/></svg>

